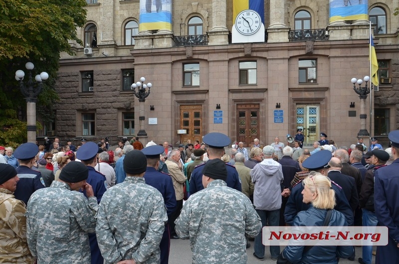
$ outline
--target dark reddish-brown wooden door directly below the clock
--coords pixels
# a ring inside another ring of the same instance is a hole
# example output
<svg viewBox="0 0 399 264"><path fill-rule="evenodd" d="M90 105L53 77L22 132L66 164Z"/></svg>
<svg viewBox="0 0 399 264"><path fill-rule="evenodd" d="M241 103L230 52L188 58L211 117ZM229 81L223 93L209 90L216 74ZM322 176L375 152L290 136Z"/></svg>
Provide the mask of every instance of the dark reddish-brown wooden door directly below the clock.
<svg viewBox="0 0 399 264"><path fill-rule="evenodd" d="M237 141L251 146L259 138L259 120L259 104L237 105Z"/></svg>

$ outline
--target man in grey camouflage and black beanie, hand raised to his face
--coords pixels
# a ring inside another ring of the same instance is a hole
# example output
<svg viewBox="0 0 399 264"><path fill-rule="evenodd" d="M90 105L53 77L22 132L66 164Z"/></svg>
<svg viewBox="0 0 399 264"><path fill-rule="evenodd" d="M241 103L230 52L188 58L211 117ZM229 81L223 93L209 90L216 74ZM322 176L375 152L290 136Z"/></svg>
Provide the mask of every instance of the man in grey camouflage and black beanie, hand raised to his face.
<svg viewBox="0 0 399 264"><path fill-rule="evenodd" d="M32 194L26 210L27 242L40 264L91 262L88 233L94 233L98 209L86 183L87 167L71 161L58 181ZM86 195L78 192L86 190Z"/></svg>

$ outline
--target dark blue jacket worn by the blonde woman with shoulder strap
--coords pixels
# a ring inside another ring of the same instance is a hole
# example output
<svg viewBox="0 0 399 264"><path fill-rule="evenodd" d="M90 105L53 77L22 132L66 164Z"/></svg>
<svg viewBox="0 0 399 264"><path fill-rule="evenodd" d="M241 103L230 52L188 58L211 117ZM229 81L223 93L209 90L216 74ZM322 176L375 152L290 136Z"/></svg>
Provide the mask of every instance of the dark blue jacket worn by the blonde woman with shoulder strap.
<svg viewBox="0 0 399 264"><path fill-rule="evenodd" d="M293 226L322 226L327 210L310 206L308 210L299 212ZM328 226L348 226L342 213L332 210ZM304 246L287 246L283 256L292 263L299 264L337 264L337 258L349 258L354 251L352 246L318 246L312 247L303 254Z"/></svg>

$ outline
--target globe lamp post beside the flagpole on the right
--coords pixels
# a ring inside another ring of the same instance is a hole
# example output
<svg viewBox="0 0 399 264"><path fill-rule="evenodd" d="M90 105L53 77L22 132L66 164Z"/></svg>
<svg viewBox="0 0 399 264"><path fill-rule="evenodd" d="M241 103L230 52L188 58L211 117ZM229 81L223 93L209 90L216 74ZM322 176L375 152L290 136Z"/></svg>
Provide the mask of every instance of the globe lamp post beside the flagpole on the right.
<svg viewBox="0 0 399 264"><path fill-rule="evenodd" d="M365 86L362 86L363 81L365 82ZM356 78L351 79L351 82L353 83L353 90L359 95L360 98L360 131L358 133L358 136L370 136L369 132L366 129L366 99L367 95L370 93L373 87L372 84L370 84L370 87L367 86L367 82L369 81L369 76L365 76L363 80L358 80ZM356 84L358 84L359 86L356 87Z"/></svg>

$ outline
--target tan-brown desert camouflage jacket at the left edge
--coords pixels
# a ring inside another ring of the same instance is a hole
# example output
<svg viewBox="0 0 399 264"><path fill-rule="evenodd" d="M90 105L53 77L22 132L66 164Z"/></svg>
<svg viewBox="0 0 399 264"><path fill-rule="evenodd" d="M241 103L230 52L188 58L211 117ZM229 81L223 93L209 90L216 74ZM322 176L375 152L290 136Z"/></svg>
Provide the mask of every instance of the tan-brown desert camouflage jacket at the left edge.
<svg viewBox="0 0 399 264"><path fill-rule="evenodd" d="M26 243L25 211L21 200L0 188L0 263L35 263Z"/></svg>

